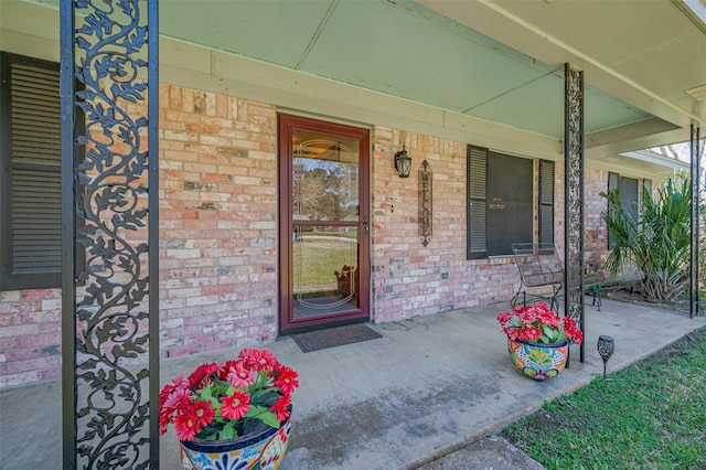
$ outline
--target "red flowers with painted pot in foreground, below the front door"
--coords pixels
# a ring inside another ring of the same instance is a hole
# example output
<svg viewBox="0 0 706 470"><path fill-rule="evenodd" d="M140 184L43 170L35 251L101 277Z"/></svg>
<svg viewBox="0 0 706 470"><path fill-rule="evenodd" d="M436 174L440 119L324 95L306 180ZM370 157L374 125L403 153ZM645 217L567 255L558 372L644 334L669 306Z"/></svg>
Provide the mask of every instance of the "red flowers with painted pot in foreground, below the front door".
<svg viewBox="0 0 706 470"><path fill-rule="evenodd" d="M202 364L159 395L160 434L173 425L184 469L277 469L287 450L298 374L267 350Z"/></svg>

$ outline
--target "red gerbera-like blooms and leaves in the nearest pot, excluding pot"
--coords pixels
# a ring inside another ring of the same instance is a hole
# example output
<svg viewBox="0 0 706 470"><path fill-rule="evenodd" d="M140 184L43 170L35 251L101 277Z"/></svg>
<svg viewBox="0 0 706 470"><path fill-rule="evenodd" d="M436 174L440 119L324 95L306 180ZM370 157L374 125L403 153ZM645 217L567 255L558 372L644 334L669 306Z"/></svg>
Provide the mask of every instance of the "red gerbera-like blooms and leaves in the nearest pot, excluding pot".
<svg viewBox="0 0 706 470"><path fill-rule="evenodd" d="M245 349L237 361L202 364L160 392L160 435L169 424L182 441L234 439L263 424L279 428L290 415L297 377L267 350Z"/></svg>

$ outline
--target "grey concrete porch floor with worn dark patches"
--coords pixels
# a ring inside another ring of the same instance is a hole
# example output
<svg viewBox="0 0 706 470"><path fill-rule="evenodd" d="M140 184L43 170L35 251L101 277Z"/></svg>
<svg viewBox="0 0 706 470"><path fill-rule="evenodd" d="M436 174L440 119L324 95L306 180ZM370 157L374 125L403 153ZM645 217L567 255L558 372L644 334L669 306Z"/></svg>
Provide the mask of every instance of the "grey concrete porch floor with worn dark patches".
<svg viewBox="0 0 706 470"><path fill-rule="evenodd" d="M507 302L372 325L383 338L302 353L291 338L264 345L299 372L292 435L281 470L415 469L501 430L602 373L600 334L616 339L609 371L622 368L706 324L706 318L630 303L586 306L586 362L539 383L515 372L495 317ZM161 382L237 351L161 362ZM0 391L0 467L61 468L61 382ZM489 448L496 442L489 444ZM468 449L466 450L468 451ZM486 452L498 457L498 450ZM179 469L178 441L160 440L161 468ZM457 452L456 461L483 466ZM498 460L493 468L499 469ZM432 466L426 468L431 469ZM467 467L434 467L467 468ZM511 468L510 466L507 468Z"/></svg>

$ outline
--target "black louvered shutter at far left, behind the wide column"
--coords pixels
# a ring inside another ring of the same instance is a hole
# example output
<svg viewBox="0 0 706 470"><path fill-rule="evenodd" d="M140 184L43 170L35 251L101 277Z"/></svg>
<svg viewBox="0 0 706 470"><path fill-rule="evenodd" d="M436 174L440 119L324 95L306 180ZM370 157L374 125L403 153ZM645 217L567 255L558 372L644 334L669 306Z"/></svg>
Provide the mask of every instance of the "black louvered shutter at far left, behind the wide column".
<svg viewBox="0 0 706 470"><path fill-rule="evenodd" d="M58 64L3 52L0 75L0 289L58 287Z"/></svg>

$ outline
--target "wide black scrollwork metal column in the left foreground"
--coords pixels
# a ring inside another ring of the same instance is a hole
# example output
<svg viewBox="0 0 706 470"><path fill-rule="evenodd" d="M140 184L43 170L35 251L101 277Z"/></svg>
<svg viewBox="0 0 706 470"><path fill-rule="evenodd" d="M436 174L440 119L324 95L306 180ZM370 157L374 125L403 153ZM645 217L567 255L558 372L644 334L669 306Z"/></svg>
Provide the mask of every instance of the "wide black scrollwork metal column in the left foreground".
<svg viewBox="0 0 706 470"><path fill-rule="evenodd" d="M157 51L157 0L61 1L64 469L159 468Z"/></svg>

